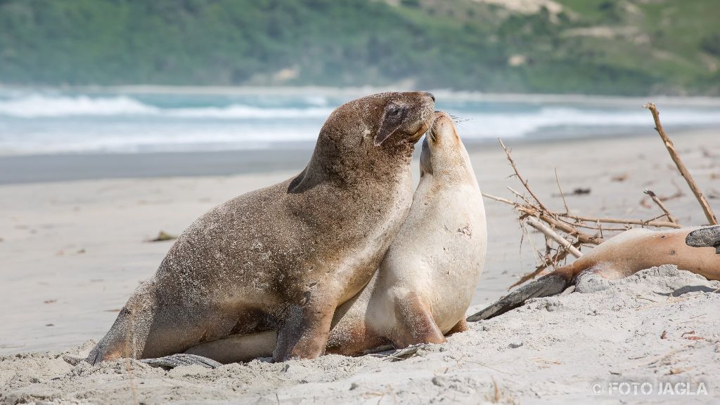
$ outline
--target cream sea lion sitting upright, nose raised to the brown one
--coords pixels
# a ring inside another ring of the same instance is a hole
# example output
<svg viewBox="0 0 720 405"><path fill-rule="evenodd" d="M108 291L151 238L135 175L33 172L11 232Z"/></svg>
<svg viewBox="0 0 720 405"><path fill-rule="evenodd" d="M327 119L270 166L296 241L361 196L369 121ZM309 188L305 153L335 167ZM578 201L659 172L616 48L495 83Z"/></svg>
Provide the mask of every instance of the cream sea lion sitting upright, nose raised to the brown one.
<svg viewBox="0 0 720 405"><path fill-rule="evenodd" d="M441 343L466 329L485 263L485 209L467 151L444 113L423 142L420 174L410 214L377 273L337 309L326 352ZM187 353L233 363L269 355L274 340L273 332L235 336Z"/></svg>

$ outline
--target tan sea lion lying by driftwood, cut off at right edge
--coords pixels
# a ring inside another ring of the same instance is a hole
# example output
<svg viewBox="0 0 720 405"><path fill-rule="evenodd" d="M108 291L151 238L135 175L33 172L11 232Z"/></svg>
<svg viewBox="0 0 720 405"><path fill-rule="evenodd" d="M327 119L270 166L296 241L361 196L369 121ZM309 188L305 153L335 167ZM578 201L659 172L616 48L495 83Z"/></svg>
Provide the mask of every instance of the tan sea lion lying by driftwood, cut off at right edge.
<svg viewBox="0 0 720 405"><path fill-rule="evenodd" d="M671 264L708 280L720 280L720 226L667 231L629 229L611 237L571 265L521 286L507 296L468 317L470 322L489 319L521 306L527 299L552 296L592 272L608 280L624 278L640 270Z"/></svg>

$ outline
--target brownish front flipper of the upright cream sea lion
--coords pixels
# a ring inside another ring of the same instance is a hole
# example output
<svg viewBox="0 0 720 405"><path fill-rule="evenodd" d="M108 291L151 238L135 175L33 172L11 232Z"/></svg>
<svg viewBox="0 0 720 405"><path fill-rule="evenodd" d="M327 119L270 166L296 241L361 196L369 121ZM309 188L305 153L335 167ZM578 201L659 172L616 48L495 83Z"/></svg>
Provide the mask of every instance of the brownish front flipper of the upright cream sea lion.
<svg viewBox="0 0 720 405"><path fill-rule="evenodd" d="M428 306L416 293L395 299L397 330L392 339L396 349L420 343L444 343L445 336Z"/></svg>

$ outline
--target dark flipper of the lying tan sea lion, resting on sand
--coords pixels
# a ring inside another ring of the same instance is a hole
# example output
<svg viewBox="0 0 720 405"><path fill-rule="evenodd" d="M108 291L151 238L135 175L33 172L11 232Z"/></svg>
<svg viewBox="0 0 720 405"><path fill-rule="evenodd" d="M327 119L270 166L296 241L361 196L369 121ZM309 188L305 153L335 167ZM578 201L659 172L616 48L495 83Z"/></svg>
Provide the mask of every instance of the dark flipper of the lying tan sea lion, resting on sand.
<svg viewBox="0 0 720 405"><path fill-rule="evenodd" d="M482 311L470 315L467 317L467 322L477 322L482 319L497 317L510 311L510 309L516 309L518 306L525 304L525 301L531 298L557 295L562 293L568 284L569 280L561 274L548 274L538 278L536 281L527 283L525 286L521 286Z"/></svg>

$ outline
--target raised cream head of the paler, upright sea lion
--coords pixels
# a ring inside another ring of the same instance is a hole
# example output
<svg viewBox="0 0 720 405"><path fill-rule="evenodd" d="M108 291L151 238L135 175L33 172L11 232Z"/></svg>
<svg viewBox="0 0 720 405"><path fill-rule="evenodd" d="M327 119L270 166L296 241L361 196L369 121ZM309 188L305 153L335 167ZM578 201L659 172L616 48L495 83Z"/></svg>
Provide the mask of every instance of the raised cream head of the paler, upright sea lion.
<svg viewBox="0 0 720 405"><path fill-rule="evenodd" d="M477 184L470 158L457 135L452 118L436 112L420 154L420 176L451 176L459 181L472 180Z"/></svg>

